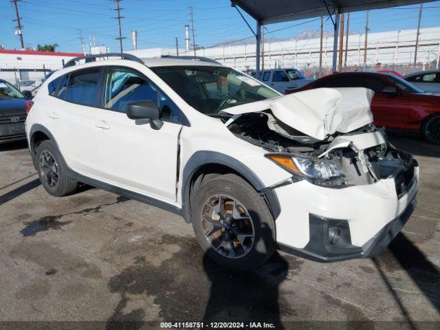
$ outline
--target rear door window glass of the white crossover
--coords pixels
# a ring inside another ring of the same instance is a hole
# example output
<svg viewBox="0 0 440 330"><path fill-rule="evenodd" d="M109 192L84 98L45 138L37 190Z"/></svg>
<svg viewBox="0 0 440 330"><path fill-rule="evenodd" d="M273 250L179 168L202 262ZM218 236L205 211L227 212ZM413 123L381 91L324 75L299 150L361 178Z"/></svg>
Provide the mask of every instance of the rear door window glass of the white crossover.
<svg viewBox="0 0 440 330"><path fill-rule="evenodd" d="M88 69L78 72L72 72L69 76L67 90L64 92L62 86L58 89L58 97L65 100L96 107L98 81L100 78L100 69Z"/></svg>

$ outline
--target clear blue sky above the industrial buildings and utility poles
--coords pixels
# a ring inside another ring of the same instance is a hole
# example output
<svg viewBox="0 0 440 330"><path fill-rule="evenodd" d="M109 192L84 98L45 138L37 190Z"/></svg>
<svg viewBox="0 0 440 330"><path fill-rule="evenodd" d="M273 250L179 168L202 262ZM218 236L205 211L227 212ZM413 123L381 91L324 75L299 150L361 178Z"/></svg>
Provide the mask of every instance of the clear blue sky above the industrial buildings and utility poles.
<svg viewBox="0 0 440 330"><path fill-rule="evenodd" d="M184 25L189 22L188 7L194 7L196 43L209 47L214 43L252 36L249 28L230 0L122 0L122 35L124 49L131 49L130 31L138 31L138 47L175 47L175 37L184 45ZM19 6L23 19L23 37L26 45L58 43L59 51L79 52L78 30L83 37L95 36L100 45L118 51L118 25L114 3L111 0L26 0ZM421 28L440 26L440 1L425 3ZM417 28L418 5L373 10L370 12L370 32L406 30ZM0 44L7 49L19 49L18 36L14 36L14 9L9 0L0 0ZM247 17L247 16L246 16ZM364 32L365 12L355 12L350 17L350 29ZM252 27L254 21L247 17ZM287 28L291 25L297 25ZM274 31L271 36L285 38L304 30L318 30L319 19L267 25ZM326 30L331 30L327 21ZM317 34L318 35L318 34Z"/></svg>

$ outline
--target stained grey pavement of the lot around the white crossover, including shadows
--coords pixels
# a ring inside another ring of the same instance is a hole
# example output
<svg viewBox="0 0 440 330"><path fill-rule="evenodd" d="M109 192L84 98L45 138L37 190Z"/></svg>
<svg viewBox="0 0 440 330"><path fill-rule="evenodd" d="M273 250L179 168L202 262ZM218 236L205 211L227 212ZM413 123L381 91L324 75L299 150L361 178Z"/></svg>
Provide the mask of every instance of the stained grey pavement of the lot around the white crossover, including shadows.
<svg viewBox="0 0 440 330"><path fill-rule="evenodd" d="M51 197L26 145L0 146L0 320L100 321L99 329L121 329L121 320L135 321L129 329L203 319L276 329L401 321L439 329L440 146L391 141L415 154L421 185L415 213L383 254L323 264L279 252L243 274L207 259L181 217L96 188Z"/></svg>

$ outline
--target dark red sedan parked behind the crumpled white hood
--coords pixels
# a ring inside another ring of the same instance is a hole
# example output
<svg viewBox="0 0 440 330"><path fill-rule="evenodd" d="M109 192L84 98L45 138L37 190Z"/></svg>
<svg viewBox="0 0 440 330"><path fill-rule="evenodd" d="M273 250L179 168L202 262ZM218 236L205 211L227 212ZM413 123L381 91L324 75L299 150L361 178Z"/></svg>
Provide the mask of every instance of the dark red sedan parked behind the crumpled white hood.
<svg viewBox="0 0 440 330"><path fill-rule="evenodd" d="M344 72L331 74L285 94L320 87L366 87L375 95L371 111L376 126L419 131L431 143L440 144L440 95L428 94L392 74Z"/></svg>

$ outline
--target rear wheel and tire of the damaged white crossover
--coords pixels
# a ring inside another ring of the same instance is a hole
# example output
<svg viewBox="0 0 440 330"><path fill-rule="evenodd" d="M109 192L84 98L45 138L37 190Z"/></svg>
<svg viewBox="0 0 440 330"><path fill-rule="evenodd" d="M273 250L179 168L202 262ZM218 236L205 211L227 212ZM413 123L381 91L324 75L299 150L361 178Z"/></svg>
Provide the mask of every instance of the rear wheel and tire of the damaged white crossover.
<svg viewBox="0 0 440 330"><path fill-rule="evenodd" d="M67 196L78 188L78 182L67 177L67 166L54 142L46 140L38 146L36 167L41 184L50 195Z"/></svg>

